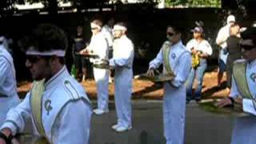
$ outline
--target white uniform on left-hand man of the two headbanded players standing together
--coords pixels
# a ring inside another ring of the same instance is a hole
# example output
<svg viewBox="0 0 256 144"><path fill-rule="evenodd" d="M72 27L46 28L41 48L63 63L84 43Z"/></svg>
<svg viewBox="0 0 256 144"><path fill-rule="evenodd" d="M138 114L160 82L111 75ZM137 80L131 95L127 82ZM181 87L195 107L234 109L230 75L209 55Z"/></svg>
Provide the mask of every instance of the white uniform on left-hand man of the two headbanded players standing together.
<svg viewBox="0 0 256 144"><path fill-rule="evenodd" d="M92 36L90 45L87 48L97 54L99 58L90 59L94 64L102 62L102 59L108 60L108 43L102 32ZM94 80L97 85L98 109L108 111L109 102L109 70L94 67Z"/></svg>

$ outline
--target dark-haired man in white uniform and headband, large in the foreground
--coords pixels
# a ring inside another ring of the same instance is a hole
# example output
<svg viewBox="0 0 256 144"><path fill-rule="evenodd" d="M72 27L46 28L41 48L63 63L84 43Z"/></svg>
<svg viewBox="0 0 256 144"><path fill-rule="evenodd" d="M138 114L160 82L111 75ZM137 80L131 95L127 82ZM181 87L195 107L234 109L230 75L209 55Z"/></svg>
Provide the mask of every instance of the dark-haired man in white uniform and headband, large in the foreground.
<svg viewBox="0 0 256 144"><path fill-rule="evenodd" d="M11 109L0 130L0 144L25 129L32 119L34 133L53 144L88 144L91 106L84 88L69 74L64 56L67 39L58 26L38 26L24 46L26 67L34 79L26 98Z"/></svg>

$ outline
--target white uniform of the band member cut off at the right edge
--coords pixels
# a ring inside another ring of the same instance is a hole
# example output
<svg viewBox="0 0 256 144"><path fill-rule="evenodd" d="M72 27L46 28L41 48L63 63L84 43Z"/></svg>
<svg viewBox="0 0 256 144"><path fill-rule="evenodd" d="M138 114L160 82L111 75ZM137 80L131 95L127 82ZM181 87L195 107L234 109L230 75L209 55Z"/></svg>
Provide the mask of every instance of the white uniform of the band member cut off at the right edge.
<svg viewBox="0 0 256 144"><path fill-rule="evenodd" d="M237 60L234 65L238 62L245 62L245 60ZM242 99L242 110L250 115L236 118L231 144L254 144L256 142L256 59L252 62L247 62L246 73L243 72L242 74L246 74L247 86L254 100L249 98ZM242 93L240 93L237 82L233 77L230 97L238 98L238 96L242 96Z"/></svg>

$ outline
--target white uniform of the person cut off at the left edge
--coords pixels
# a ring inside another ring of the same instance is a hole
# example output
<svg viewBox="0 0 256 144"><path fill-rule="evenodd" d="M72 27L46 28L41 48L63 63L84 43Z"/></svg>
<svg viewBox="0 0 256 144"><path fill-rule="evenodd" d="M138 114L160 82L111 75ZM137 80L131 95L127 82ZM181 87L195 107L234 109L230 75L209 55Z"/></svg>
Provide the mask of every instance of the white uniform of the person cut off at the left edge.
<svg viewBox="0 0 256 144"><path fill-rule="evenodd" d="M13 58L3 45L0 45L0 126L10 108L20 102Z"/></svg>

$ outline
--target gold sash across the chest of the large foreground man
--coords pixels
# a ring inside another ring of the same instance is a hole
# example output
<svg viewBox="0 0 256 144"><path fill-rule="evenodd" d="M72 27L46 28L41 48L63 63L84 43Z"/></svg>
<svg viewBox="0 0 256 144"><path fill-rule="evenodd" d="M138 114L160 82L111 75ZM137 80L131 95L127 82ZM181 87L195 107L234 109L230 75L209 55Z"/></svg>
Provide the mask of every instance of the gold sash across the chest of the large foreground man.
<svg viewBox="0 0 256 144"><path fill-rule="evenodd" d="M30 95L31 110L34 118L34 124L38 133L45 137L45 130L42 126L42 95L45 91L45 79L34 81Z"/></svg>

